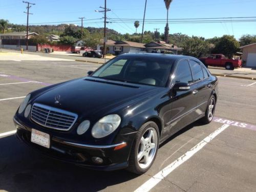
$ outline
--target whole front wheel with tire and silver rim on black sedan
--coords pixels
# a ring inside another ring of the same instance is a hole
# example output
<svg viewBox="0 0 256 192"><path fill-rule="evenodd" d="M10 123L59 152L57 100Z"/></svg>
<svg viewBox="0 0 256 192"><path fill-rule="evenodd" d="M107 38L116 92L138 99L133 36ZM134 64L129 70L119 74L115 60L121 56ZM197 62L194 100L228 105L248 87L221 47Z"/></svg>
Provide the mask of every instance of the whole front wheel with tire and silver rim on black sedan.
<svg viewBox="0 0 256 192"><path fill-rule="evenodd" d="M143 124L136 133L127 170L141 175L154 163L159 146L159 129L155 122Z"/></svg>

